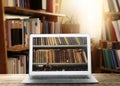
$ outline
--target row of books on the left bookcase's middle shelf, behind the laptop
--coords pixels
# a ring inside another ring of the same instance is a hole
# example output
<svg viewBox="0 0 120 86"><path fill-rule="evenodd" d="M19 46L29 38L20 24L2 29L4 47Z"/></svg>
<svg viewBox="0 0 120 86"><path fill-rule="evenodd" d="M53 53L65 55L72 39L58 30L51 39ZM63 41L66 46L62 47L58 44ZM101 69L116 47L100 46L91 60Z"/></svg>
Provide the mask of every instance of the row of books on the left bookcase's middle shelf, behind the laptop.
<svg viewBox="0 0 120 86"><path fill-rule="evenodd" d="M48 22L39 18L6 19L7 47L14 45L29 45L30 34L60 33L58 22Z"/></svg>

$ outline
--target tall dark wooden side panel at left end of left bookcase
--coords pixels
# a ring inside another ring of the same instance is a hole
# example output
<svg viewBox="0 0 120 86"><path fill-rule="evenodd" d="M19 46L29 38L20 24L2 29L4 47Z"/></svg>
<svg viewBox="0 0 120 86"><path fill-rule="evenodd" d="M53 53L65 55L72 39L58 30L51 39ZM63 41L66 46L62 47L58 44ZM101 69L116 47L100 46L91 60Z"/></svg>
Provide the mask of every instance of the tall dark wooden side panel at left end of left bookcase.
<svg viewBox="0 0 120 86"><path fill-rule="evenodd" d="M6 35L4 29L4 9L2 0L0 0L0 73L7 73L7 48L6 48Z"/></svg>

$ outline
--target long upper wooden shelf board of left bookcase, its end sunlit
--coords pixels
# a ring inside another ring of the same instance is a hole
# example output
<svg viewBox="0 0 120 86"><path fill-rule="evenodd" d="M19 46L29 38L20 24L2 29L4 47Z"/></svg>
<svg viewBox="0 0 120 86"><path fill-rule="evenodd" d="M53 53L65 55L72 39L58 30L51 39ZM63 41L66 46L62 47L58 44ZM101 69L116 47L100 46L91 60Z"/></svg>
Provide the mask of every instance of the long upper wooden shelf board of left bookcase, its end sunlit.
<svg viewBox="0 0 120 86"><path fill-rule="evenodd" d="M31 10L20 7L5 7L5 13L12 15L30 16L30 17L45 17L46 20L48 19L51 21L52 20L57 21L58 17L65 16L64 14L50 13L42 10Z"/></svg>

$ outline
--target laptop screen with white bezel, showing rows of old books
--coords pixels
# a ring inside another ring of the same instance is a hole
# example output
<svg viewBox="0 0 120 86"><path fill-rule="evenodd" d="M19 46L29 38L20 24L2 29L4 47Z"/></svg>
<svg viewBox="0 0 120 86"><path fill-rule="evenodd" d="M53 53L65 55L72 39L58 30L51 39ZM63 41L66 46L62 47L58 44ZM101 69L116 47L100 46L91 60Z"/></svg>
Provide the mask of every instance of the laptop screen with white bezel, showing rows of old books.
<svg viewBox="0 0 120 86"><path fill-rule="evenodd" d="M88 35L32 34L30 37L30 73L90 72L90 60Z"/></svg>

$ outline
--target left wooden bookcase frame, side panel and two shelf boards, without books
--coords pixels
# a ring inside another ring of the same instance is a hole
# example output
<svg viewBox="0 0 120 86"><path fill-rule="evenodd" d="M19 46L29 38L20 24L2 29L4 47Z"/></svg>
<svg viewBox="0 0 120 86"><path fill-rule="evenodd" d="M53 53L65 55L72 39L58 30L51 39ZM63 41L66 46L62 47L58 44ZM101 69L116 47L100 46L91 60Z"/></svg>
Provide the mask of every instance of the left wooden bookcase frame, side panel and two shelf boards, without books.
<svg viewBox="0 0 120 86"><path fill-rule="evenodd" d="M19 16L29 16L29 17L35 17L35 18L45 18L47 21L58 21L58 17L65 16L64 14L58 14L58 13L51 13L51 12L45 12L45 11L36 11L28 8L22 8L22 7L4 7L3 6L3 0L0 0L0 73L8 73L8 67L7 67L7 60L8 60L8 52L22 52L29 49L28 46L23 47L22 45L14 46L7 48L7 37L6 37L6 28L5 28L5 14L10 15L19 15Z"/></svg>

